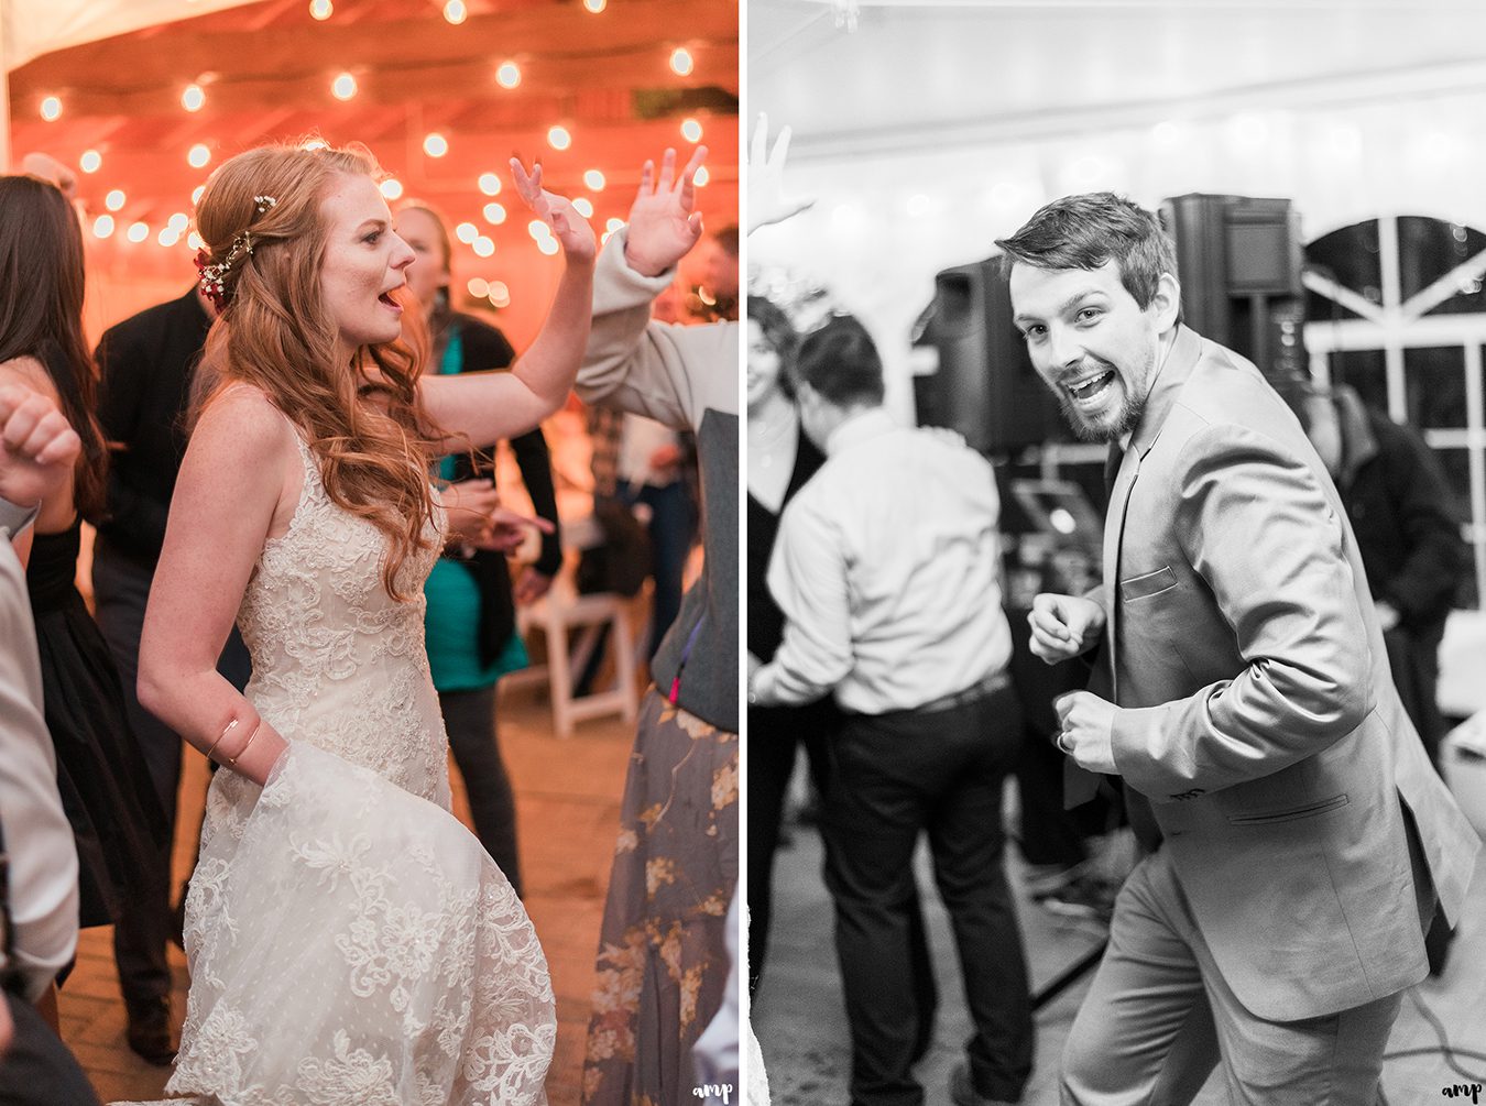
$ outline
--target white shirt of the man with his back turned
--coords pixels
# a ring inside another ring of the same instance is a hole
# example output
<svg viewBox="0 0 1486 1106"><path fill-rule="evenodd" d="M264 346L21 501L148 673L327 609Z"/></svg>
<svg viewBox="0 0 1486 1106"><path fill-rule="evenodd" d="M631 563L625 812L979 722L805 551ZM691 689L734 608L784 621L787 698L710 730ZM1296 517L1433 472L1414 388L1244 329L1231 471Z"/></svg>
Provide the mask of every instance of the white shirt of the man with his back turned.
<svg viewBox="0 0 1486 1106"><path fill-rule="evenodd" d="M837 427L779 523L768 587L786 626L752 681L759 700L834 691L847 711L884 714L1005 669L999 510L991 465L957 434L899 427L881 407Z"/></svg>

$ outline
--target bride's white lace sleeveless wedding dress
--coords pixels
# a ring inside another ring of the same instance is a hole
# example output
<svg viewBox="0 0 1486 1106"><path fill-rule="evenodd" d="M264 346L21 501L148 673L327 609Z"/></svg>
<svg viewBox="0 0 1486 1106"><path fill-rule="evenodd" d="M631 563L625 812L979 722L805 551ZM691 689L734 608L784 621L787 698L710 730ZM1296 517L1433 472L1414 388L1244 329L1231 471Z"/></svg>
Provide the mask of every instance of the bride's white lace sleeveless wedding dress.
<svg viewBox="0 0 1486 1106"><path fill-rule="evenodd" d="M510 883L449 813L447 742L410 557L305 491L239 614L248 699L290 749L218 772L186 902L192 987L166 1094L217 1106L545 1103L551 981ZM415 563L416 562L416 563ZM180 1106L180 1099L172 1099ZM125 1105L119 1105L125 1106Z"/></svg>

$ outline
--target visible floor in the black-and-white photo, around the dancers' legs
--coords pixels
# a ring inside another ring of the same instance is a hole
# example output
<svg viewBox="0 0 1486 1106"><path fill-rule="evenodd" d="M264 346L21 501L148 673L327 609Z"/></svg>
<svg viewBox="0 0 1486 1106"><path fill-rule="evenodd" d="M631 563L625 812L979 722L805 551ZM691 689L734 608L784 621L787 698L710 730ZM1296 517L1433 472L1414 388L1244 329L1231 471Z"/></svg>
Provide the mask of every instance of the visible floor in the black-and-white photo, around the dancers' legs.
<svg viewBox="0 0 1486 1106"><path fill-rule="evenodd" d="M789 846L782 847L776 859L774 931L764 978L752 1005L753 1030L764 1051L774 1106L846 1106L849 1102L850 1039L832 941L831 899L820 882L820 838L814 828L795 827ZM950 1072L963 1057L970 1021L964 1012L948 916L933 890L926 849L920 850L915 867L939 984L935 1042L915 1073L924 1085L927 1106L948 1106ZM1016 893L1033 987L1037 989L1094 948L1103 931L1092 923L1057 919L1036 907L1024 892L1022 865L1015 849L1008 850L1008 871ZM1088 977L1037 1014L1036 1069L1022 1097L1027 1106L1055 1106L1058 1102L1058 1055L1086 992ZM1452 1045L1486 1052L1486 853L1476 868L1465 920L1450 950L1449 966L1440 980L1427 980L1404 999L1388 1044L1389 1054L1438 1044L1421 1012L1421 1002L1444 1024ZM1486 1060L1462 1060L1461 1064L1486 1085ZM1383 1064L1389 1106L1443 1102L1441 1090L1462 1082L1465 1079L1438 1054L1395 1057ZM1214 1073L1196 1106L1226 1103L1220 1076Z"/></svg>

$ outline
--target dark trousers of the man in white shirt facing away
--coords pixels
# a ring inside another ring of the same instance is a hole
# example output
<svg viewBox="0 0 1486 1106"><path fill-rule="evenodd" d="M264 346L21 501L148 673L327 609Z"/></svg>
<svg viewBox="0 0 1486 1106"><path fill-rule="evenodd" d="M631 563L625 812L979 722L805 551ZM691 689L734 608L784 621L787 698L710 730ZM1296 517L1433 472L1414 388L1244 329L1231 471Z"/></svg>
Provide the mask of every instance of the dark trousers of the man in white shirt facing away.
<svg viewBox="0 0 1486 1106"><path fill-rule="evenodd" d="M1002 867L1002 785L1021 742L1010 687L945 711L849 715L826 792L826 885L851 1024L853 1106L918 1106L912 855L929 832L960 953L976 1090L1015 1102L1034 1032L1021 931Z"/></svg>

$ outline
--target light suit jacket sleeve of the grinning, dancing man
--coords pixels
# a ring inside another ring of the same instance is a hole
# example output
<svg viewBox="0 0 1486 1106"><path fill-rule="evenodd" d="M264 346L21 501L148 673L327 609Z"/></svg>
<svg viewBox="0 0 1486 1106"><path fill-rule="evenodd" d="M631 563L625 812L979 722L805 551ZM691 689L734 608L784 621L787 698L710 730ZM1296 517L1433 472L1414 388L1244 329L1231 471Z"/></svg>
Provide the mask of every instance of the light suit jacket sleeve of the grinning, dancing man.
<svg viewBox="0 0 1486 1106"><path fill-rule="evenodd" d="M1311 467L1257 431L1214 425L1186 443L1177 474L1178 541L1245 667L1187 699L1116 712L1114 764L1147 795L1279 772L1373 705L1342 520ZM1201 648L1201 632L1177 648Z"/></svg>

